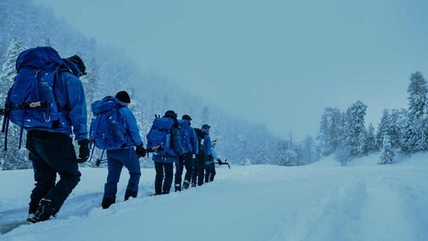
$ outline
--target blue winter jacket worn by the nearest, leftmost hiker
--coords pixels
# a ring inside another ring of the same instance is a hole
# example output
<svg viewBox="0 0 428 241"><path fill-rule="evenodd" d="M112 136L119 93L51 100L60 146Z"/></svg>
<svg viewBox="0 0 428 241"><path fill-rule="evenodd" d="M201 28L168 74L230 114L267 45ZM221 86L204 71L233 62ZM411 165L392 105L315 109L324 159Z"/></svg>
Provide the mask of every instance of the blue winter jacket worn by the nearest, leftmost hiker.
<svg viewBox="0 0 428 241"><path fill-rule="evenodd" d="M55 83L54 95L57 104L61 107L60 127L57 129L37 128L50 132L62 132L67 135L74 133L76 140L87 138L87 112L85 91L76 71L77 67L72 64L70 70L60 71L59 78ZM72 127L72 130L71 130Z"/></svg>

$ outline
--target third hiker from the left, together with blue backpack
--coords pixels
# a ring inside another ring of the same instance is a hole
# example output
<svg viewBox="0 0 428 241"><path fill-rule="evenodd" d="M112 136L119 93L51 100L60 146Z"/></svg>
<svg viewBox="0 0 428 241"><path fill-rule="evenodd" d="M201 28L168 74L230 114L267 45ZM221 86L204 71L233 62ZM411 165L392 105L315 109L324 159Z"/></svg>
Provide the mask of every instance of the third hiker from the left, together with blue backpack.
<svg viewBox="0 0 428 241"><path fill-rule="evenodd" d="M168 111L162 118L153 120L152 128L147 134L147 149L155 150L152 154L156 170L155 195L169 194L174 176L173 162L178 162L185 153L178 128L177 113Z"/></svg>

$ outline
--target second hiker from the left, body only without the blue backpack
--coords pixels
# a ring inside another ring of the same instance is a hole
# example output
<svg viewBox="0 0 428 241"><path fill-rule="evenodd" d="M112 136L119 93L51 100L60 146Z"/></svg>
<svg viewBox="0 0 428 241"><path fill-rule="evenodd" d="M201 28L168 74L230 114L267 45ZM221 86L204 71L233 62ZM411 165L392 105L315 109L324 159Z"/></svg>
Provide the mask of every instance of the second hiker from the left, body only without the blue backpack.
<svg viewBox="0 0 428 241"><path fill-rule="evenodd" d="M124 199L127 201L129 197L136 198L141 176L140 161L138 159L145 156L143 141L136 125L136 117L128 108L131 98L126 91L118 92L116 98L123 104L119 108L119 112L127 129L128 145L122 146L120 149L107 150L109 174L107 175L107 182L104 185L103 209L109 208L111 204L116 202L118 182L123 166L129 171L128 187ZM135 150L134 146L136 146Z"/></svg>

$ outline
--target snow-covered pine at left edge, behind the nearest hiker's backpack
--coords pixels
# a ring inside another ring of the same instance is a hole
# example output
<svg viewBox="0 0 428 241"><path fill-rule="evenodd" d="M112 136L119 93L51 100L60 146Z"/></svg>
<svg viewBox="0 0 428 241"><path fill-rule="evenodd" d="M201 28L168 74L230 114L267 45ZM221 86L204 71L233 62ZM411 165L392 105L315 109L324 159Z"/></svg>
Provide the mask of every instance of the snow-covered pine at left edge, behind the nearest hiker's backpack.
<svg viewBox="0 0 428 241"><path fill-rule="evenodd" d="M25 46L22 44L21 39L13 37L11 44L7 48L5 62L2 66L2 71L0 72L0 81L2 83L0 86L0 98L2 100L2 104L4 104L7 92L9 88L12 87L13 79L16 76L16 59L24 49ZM3 170L26 169L31 166L24 148L18 149L20 131L21 128L12 123L10 124L8 133L9 148L6 153L4 153L4 133L1 133L0 135L0 152L3 153L0 162ZM25 143L25 140L23 140L23 143Z"/></svg>

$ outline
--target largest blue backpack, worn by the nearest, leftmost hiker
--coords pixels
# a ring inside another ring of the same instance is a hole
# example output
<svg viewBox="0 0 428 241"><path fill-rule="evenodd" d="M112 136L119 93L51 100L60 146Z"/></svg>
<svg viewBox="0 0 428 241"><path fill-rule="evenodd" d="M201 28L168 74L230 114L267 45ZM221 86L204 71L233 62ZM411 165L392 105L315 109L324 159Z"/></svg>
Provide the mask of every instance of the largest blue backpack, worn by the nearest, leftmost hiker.
<svg viewBox="0 0 428 241"><path fill-rule="evenodd" d="M7 150L9 120L22 129L53 129L60 124L55 82L61 66L61 56L52 47L35 47L21 52L16 61L17 76L5 102L3 132Z"/></svg>

